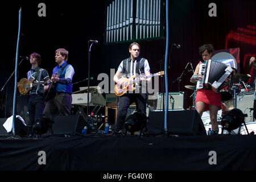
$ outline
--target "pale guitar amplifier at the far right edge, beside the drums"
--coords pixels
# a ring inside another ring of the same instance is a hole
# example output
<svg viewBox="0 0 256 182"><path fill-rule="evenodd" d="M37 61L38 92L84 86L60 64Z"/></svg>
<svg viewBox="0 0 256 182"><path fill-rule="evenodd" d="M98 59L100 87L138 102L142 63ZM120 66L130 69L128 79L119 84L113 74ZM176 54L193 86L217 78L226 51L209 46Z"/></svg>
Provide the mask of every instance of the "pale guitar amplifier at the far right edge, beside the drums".
<svg viewBox="0 0 256 182"><path fill-rule="evenodd" d="M237 93L237 109L240 109L243 114L247 114L245 122L253 122L253 102L254 91Z"/></svg>

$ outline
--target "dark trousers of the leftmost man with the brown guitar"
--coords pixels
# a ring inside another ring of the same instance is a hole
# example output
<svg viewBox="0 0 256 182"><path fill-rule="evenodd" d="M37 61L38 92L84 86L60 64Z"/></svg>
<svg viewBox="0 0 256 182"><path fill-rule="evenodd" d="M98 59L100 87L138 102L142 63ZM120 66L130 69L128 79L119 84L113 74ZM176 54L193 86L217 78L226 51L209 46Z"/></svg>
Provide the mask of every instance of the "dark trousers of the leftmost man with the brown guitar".
<svg viewBox="0 0 256 182"><path fill-rule="evenodd" d="M36 119L40 118L44 110L44 98L42 95L30 95L28 97L28 126L32 126Z"/></svg>

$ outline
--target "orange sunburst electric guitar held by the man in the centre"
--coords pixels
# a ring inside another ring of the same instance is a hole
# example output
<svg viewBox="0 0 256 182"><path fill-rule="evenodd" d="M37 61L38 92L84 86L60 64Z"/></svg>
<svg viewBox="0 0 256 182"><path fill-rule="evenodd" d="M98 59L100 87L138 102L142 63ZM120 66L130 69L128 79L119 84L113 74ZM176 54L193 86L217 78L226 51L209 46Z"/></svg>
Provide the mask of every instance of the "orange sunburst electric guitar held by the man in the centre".
<svg viewBox="0 0 256 182"><path fill-rule="evenodd" d="M148 75L146 77L143 77L144 79L150 78L150 77L154 77L154 76L161 76L164 75L164 71L152 74L152 75ZM122 85L119 84L115 84L115 94L117 96L122 96L123 94L125 94L128 90L135 90L136 88L134 87L134 83L135 82L139 82L142 80L142 78L135 78L135 75L133 77L130 78L121 78L123 80Z"/></svg>

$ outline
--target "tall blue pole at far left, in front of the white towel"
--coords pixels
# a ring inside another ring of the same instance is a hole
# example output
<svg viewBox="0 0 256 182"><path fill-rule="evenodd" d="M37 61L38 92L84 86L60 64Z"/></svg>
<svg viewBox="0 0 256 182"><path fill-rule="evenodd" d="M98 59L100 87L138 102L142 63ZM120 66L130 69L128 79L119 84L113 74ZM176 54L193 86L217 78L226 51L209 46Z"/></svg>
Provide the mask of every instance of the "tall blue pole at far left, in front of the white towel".
<svg viewBox="0 0 256 182"><path fill-rule="evenodd" d="M19 9L19 31L18 40L16 46L16 59L15 59L15 83L14 83L14 96L13 96L13 135L15 136L15 119L16 119L16 94L17 94L17 72L18 72L18 58L19 58L19 39L20 39L20 22L21 22L21 12Z"/></svg>

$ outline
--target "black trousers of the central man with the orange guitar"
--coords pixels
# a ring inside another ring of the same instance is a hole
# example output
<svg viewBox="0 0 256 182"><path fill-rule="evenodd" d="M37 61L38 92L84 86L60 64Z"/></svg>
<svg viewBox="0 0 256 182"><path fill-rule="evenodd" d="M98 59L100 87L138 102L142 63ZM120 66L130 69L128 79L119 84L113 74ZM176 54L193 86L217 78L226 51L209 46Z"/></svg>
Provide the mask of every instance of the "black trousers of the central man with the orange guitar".
<svg viewBox="0 0 256 182"><path fill-rule="evenodd" d="M119 97L117 110L117 130L122 130L125 124L126 114L129 106L135 102L137 111L146 115L147 94L126 93Z"/></svg>

